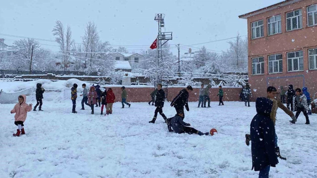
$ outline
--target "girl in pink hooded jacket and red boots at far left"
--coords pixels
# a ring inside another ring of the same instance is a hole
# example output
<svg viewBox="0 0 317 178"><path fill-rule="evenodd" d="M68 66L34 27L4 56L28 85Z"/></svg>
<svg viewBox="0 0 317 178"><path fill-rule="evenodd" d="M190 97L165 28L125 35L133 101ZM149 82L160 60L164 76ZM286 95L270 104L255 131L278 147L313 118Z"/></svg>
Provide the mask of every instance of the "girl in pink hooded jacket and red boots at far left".
<svg viewBox="0 0 317 178"><path fill-rule="evenodd" d="M18 103L15 104L14 108L11 110L11 114L15 113L14 115L14 124L18 126L16 130L16 134L13 136L20 136L21 134L25 134L24 131L24 122L26 120L27 112L32 110L32 104L26 104L26 95L20 95L18 97Z"/></svg>

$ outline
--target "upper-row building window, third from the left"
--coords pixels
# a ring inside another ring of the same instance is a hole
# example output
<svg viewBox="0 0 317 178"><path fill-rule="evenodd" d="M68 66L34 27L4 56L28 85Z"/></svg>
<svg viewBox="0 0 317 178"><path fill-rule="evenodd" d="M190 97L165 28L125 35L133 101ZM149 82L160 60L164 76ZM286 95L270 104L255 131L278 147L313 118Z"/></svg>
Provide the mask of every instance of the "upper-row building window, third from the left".
<svg viewBox="0 0 317 178"><path fill-rule="evenodd" d="M286 31L303 28L302 10L298 9L286 13Z"/></svg>

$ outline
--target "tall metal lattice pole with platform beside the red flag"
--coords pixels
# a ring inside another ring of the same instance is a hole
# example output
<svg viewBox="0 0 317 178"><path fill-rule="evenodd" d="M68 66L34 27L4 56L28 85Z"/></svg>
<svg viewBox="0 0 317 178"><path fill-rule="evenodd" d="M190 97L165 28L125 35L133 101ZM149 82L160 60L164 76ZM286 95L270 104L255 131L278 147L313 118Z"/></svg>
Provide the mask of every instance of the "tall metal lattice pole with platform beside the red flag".
<svg viewBox="0 0 317 178"><path fill-rule="evenodd" d="M163 60L163 50L162 50L162 45L164 45L166 42L168 42L169 40L172 40L172 32L162 32L161 28L165 27L165 23L164 23L164 17L165 14L156 14L154 20L158 22L159 25L159 32L158 32L158 40L157 40L157 50L158 50L158 67L159 67L159 58L161 60ZM164 41L164 43L162 44L162 41ZM159 82L161 81L161 77L162 76L157 76L156 79L156 83L159 84Z"/></svg>

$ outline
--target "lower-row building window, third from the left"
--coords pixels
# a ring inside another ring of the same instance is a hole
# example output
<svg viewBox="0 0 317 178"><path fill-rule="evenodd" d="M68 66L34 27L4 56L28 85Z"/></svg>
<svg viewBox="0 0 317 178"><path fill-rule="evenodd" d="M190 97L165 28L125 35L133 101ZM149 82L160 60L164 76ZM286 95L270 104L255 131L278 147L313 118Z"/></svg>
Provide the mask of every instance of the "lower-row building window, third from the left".
<svg viewBox="0 0 317 178"><path fill-rule="evenodd" d="M304 70L303 51L287 53L287 70L288 72Z"/></svg>

